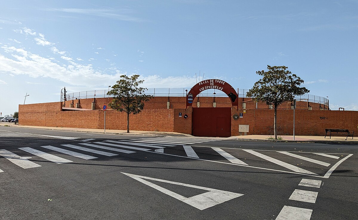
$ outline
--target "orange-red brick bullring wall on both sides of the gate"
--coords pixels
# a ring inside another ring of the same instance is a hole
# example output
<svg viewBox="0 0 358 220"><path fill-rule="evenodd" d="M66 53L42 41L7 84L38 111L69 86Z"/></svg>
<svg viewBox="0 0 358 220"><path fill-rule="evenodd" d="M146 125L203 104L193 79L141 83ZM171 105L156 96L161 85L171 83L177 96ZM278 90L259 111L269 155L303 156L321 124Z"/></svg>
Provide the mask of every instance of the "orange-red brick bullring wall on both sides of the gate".
<svg viewBox="0 0 358 220"><path fill-rule="evenodd" d="M197 97L198 98L198 97ZM197 107L197 98L193 107ZM103 104L108 104L111 98L96 98L95 109L90 111L61 111L62 107L70 107L71 101L37 103L19 105L19 123L30 126L73 127L73 128L104 128ZM169 97L170 109L167 109L168 97L155 97L145 103L145 109L136 115L130 114L130 130L161 131L192 133L192 108L185 108L185 97ZM217 107L231 107L227 97L216 97ZM242 109L242 101L246 109ZM93 98L79 100L80 108L91 109ZM200 107L212 107L213 97L199 97ZM74 100L76 107L78 100ZM320 111L319 104L309 103L313 110L307 110L306 102L297 103L295 111L296 135L324 135L325 128L349 129L358 135L358 111ZM274 109L269 109L265 103L256 103L249 98L241 98L239 108L232 107L232 115L243 113L243 118L237 121L231 119L231 135L239 133L239 125L249 125L247 134L274 134ZM323 107L323 105L322 105ZM245 113L244 113L245 110ZM182 117L179 117L182 113ZM184 119L184 114L188 119ZM106 129L126 130L127 115L108 109L106 112ZM277 110L277 131L279 135L293 133L293 110L290 103L284 103Z"/></svg>

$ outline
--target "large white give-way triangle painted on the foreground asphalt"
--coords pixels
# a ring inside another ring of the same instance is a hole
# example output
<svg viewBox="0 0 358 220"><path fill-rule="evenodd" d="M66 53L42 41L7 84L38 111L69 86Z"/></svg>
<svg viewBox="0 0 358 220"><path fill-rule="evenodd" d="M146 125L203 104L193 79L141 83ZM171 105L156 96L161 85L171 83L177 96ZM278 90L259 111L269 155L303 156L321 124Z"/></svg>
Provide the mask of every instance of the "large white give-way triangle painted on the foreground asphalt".
<svg viewBox="0 0 358 220"><path fill-rule="evenodd" d="M228 200L231 200L231 199L234 199L234 198L237 198L237 197L243 195L240 193L232 193L232 192L228 192L228 191L211 189L211 188L202 187L202 186L195 186L195 185L178 183L178 182L173 182L173 181L168 181L168 180L163 180L163 179L150 178L147 176L140 176L140 175L134 175L134 174L129 174L129 173L123 173L123 174L130 176L131 178L138 180L141 183L144 183L156 190L159 190L162 193L165 193L175 199L183 201L184 203L191 205L199 210L207 209L214 205L218 205L220 203L223 203L225 201L228 201ZM187 198L185 196L174 193L173 191L165 189L161 186L158 186L158 185L151 183L149 181L146 181L144 179L159 181L159 182L163 182L163 183L170 183L170 184L175 184L175 185L181 185L181 186L187 186L187 187L196 188L196 189L207 190L208 192Z"/></svg>

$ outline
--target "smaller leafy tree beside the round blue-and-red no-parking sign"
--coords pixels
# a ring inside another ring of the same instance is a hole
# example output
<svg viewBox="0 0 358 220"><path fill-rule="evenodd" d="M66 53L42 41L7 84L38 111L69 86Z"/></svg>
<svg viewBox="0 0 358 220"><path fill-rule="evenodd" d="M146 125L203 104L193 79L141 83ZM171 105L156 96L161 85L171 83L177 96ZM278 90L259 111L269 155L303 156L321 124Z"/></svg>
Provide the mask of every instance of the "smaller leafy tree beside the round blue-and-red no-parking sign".
<svg viewBox="0 0 358 220"><path fill-rule="evenodd" d="M138 114L143 110L144 102L152 98L150 95L144 94L147 88L139 87L144 80L139 80L139 75L128 77L120 76L121 79L113 85L107 95L113 95L113 100L109 103L112 109L127 113L127 133L129 133L129 114Z"/></svg>

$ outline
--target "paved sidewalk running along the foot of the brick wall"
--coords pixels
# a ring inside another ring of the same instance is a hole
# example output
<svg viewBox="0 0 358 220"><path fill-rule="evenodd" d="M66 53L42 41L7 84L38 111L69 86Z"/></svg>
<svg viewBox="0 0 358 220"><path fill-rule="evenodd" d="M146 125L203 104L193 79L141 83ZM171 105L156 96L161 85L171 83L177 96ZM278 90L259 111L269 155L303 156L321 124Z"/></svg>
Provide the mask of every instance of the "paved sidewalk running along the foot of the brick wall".
<svg viewBox="0 0 358 220"><path fill-rule="evenodd" d="M61 127L44 127L44 126L24 126L24 125L14 125L14 123L0 122L0 126L8 125L10 127L20 127L20 128L34 128L34 129L47 129L47 130L59 130L59 131L75 131L75 132L85 132L85 133L105 133L105 134L119 134L119 135L140 135L140 136L178 136L178 137L195 137L190 134L182 134L176 132L155 132L155 131L129 131L126 130L112 130L106 129L89 129L89 128L61 128ZM358 144L358 137L348 137L347 136L332 136L324 138L324 136L310 136L310 135L295 135L295 140L293 135L278 135L277 137L282 137L282 140L272 140L272 135L240 135L232 136L228 138L219 138L219 137L206 137L211 139L219 140L240 140L240 141L267 141L267 142L309 142L309 143L347 143L347 144ZM205 137L197 137L205 138Z"/></svg>

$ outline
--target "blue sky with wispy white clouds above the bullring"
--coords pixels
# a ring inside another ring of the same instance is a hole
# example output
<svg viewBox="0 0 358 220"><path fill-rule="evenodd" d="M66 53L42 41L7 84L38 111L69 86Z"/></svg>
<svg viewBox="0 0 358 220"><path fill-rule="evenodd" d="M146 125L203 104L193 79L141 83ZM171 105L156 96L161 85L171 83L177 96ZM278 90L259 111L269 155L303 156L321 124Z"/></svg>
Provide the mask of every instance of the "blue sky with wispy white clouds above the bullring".
<svg viewBox="0 0 358 220"><path fill-rule="evenodd" d="M195 73L251 88L287 66L330 108L358 111L358 1L3 1L0 111L108 89L122 74L148 88Z"/></svg>

